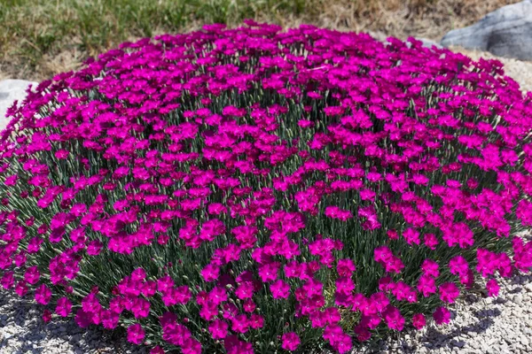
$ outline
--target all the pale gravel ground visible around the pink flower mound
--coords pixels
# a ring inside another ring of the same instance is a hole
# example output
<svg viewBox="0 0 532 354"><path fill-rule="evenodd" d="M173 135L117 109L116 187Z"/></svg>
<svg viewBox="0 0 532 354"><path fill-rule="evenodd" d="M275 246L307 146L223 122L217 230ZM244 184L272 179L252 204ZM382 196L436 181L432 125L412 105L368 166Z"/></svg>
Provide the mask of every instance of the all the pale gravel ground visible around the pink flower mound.
<svg viewBox="0 0 532 354"><path fill-rule="evenodd" d="M474 59L496 58L485 52L459 51ZM532 62L497 59L523 91L532 90ZM532 353L532 275L499 279L499 284L495 298L468 294L458 301L450 308L450 325L436 327L429 321L421 331L404 331L354 353ZM148 353L129 345L123 335L101 327L82 329L74 319L46 324L41 314L41 307L30 297L0 290L0 354Z"/></svg>

